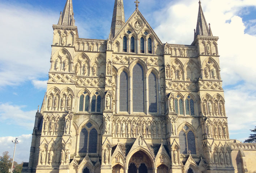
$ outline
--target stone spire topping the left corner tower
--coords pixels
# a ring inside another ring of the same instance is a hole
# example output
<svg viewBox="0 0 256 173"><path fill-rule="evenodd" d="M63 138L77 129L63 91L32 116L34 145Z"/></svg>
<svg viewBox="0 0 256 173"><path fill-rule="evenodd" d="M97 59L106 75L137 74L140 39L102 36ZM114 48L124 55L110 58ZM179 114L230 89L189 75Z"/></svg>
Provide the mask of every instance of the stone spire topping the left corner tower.
<svg viewBox="0 0 256 173"><path fill-rule="evenodd" d="M74 26L74 13L72 0L67 0L63 13L59 19L58 25Z"/></svg>

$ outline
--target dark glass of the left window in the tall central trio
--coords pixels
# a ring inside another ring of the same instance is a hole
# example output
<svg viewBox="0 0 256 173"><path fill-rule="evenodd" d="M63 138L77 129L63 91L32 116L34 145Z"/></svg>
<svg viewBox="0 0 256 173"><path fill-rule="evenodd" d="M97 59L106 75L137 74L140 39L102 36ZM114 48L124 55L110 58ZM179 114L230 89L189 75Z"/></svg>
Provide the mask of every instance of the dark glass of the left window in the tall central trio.
<svg viewBox="0 0 256 173"><path fill-rule="evenodd" d="M119 110L128 112L128 75L125 71L120 75Z"/></svg>

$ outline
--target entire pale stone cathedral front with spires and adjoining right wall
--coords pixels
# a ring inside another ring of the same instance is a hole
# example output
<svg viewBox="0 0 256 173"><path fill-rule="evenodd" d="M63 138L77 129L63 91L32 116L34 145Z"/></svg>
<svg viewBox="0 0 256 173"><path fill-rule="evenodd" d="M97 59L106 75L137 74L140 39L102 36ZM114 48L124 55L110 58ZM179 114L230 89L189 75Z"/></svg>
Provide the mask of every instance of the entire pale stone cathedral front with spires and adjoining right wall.
<svg viewBox="0 0 256 173"><path fill-rule="evenodd" d="M67 0L22 173L256 171L256 144L229 138L218 37L200 1L191 45L163 43L135 3L125 21L115 0L98 40L78 36Z"/></svg>

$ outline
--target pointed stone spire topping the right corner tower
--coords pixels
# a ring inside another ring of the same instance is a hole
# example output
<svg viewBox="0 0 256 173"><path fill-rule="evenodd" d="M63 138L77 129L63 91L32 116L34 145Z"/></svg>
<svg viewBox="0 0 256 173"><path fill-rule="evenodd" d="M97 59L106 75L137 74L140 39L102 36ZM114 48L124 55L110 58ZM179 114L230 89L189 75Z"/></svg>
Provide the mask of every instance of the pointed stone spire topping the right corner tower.
<svg viewBox="0 0 256 173"><path fill-rule="evenodd" d="M204 17L204 13L202 11L201 1L199 1L199 11L198 11L198 17L197 17L197 23L196 23L195 36L197 35L211 36L209 33L208 25Z"/></svg>

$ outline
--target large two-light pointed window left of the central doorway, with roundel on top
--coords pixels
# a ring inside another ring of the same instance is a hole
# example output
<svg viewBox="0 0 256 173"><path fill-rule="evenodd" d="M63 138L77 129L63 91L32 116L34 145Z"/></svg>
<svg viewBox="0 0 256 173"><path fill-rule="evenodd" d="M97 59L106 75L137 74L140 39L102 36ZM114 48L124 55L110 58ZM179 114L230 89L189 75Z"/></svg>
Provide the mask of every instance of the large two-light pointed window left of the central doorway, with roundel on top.
<svg viewBox="0 0 256 173"><path fill-rule="evenodd" d="M80 132L79 153L97 153L98 132L89 122Z"/></svg>

